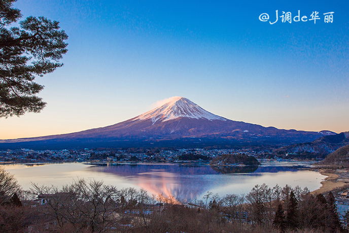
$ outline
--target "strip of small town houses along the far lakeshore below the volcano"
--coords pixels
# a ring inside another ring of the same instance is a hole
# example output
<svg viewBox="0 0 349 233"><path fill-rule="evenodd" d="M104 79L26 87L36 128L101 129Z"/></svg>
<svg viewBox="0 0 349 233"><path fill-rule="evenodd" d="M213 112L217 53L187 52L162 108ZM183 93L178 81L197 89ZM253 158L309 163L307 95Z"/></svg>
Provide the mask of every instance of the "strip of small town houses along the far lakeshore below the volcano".
<svg viewBox="0 0 349 233"><path fill-rule="evenodd" d="M149 152L149 151L148 151ZM251 149L176 149L176 150L158 150L156 153L147 153L128 150L98 150L98 149L80 149L80 150L6 150L0 151L0 162L127 162L133 161L160 161L176 162L178 156L182 154L200 154L208 157L215 157L229 153L246 153L252 156L262 156L268 151L256 152ZM263 157L263 156L262 156Z"/></svg>

